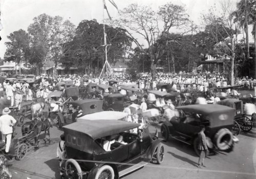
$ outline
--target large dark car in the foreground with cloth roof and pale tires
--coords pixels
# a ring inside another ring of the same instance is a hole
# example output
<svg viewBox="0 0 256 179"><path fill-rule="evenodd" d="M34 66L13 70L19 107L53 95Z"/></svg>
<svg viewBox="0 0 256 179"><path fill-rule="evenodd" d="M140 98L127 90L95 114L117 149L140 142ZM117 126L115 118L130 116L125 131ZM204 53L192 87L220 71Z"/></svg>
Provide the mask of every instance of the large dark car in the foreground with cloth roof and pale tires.
<svg viewBox="0 0 256 179"><path fill-rule="evenodd" d="M113 117L114 119L115 117ZM154 160L163 162L164 147L148 128L119 120L84 120L63 127L69 178L119 178Z"/></svg>

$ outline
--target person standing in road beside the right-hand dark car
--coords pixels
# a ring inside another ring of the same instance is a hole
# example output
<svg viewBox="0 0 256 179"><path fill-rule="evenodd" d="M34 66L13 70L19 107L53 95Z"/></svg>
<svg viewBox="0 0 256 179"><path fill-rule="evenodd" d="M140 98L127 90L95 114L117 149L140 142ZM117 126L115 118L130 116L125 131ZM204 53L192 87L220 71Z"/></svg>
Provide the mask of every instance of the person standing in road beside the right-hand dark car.
<svg viewBox="0 0 256 179"><path fill-rule="evenodd" d="M198 160L198 166L197 166L198 168L202 168L202 166L206 167L204 165L204 159L205 159L205 156L208 153L208 148L207 148L207 145L206 145L206 137L205 137L205 134L204 134L205 126L200 125L200 129L201 129L201 131L198 133L198 137L199 137L198 149L201 152L200 152L200 156L199 156L199 160Z"/></svg>

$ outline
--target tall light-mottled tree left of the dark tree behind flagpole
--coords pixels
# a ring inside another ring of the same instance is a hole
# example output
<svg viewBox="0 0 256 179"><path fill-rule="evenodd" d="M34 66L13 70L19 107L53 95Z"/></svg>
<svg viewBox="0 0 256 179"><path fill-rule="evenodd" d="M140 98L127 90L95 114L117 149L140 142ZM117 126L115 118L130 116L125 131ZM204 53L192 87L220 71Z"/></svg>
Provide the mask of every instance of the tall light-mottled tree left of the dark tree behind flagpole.
<svg viewBox="0 0 256 179"><path fill-rule="evenodd" d="M73 38L75 26L70 21L63 21L60 16L41 14L34 17L33 23L28 27L31 45L30 63L36 64L37 73L44 68L49 60L54 61L55 68L63 56L63 44Z"/></svg>

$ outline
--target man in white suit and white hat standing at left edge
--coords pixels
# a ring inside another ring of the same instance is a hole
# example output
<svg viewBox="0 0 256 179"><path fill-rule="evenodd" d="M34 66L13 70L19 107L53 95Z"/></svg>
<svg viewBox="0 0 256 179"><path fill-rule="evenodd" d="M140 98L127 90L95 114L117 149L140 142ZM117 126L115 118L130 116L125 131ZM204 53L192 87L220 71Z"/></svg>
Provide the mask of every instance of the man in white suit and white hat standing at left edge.
<svg viewBox="0 0 256 179"><path fill-rule="evenodd" d="M9 115L11 113L11 110L9 107L5 107L3 109L3 115L0 117L0 130L3 135L3 139L6 139L6 147L5 152L8 153L11 145L11 139L12 139L12 126L16 123L16 120Z"/></svg>

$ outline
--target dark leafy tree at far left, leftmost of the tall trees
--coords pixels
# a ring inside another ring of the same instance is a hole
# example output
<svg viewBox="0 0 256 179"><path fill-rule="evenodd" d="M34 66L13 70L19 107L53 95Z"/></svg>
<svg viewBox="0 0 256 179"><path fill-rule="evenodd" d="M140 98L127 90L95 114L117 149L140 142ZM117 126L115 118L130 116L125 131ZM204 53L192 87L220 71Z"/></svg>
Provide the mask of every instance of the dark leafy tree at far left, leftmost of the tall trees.
<svg viewBox="0 0 256 179"><path fill-rule="evenodd" d="M19 65L19 74L21 74L21 64L26 61L29 50L29 35L25 30L19 29L12 32L5 42L7 50L5 52L5 61L15 61Z"/></svg>

